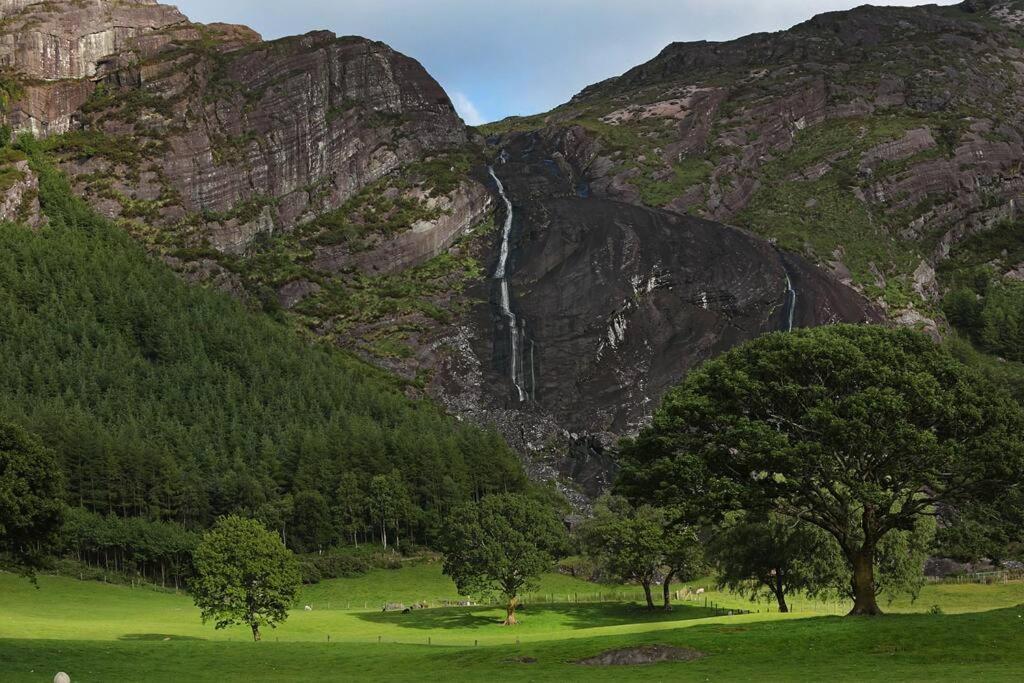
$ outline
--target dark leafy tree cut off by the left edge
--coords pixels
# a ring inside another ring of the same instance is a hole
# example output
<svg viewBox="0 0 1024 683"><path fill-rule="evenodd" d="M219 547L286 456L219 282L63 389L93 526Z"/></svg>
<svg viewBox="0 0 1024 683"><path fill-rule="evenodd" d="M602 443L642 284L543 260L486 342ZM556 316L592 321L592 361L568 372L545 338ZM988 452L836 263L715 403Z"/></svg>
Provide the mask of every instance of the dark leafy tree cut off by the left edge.
<svg viewBox="0 0 1024 683"><path fill-rule="evenodd" d="M57 542L62 493L53 452L0 422L0 566L33 575Z"/></svg>

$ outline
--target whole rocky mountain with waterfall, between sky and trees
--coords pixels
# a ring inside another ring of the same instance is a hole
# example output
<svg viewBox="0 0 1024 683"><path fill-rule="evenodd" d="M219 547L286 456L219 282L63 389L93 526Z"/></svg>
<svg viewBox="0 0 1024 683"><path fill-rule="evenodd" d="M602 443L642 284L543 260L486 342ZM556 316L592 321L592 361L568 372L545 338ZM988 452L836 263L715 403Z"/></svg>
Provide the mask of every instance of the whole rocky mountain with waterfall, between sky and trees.
<svg viewBox="0 0 1024 683"><path fill-rule="evenodd" d="M480 129L365 38L147 1L0 11L2 122L76 195L185 281L496 427L581 505L669 386L761 334L948 318L989 370L972 344L1017 338L1024 262L996 247L1024 188L1024 2L677 43ZM5 154L0 218L45 224Z"/></svg>

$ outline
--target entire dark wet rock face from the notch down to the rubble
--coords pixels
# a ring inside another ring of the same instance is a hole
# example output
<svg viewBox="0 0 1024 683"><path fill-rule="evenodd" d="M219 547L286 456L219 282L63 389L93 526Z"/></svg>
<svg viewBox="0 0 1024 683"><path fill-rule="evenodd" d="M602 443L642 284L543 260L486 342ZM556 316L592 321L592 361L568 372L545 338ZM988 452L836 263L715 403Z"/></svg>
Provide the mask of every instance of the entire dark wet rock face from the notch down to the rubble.
<svg viewBox="0 0 1024 683"><path fill-rule="evenodd" d="M856 292L762 238L588 196L587 176L551 138L504 143L495 172L513 204L511 307L527 398L512 382L495 280L477 292L489 300L471 311L468 348L441 366L435 393L497 423L588 495L610 483L615 438L702 360L765 333L882 319ZM467 385L480 387L468 401L451 389Z"/></svg>

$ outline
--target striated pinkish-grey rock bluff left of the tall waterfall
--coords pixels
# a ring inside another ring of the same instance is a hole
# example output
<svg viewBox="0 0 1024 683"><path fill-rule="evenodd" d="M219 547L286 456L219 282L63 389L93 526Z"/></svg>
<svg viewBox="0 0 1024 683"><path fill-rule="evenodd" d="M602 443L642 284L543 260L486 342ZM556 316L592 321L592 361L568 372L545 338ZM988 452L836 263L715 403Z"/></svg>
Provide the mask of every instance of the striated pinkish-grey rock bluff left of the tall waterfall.
<svg viewBox="0 0 1024 683"><path fill-rule="evenodd" d="M244 254L467 141L437 83L386 45L264 43L155 2L11 3L0 63L17 78L15 131L72 131L59 152L81 189L177 248Z"/></svg>

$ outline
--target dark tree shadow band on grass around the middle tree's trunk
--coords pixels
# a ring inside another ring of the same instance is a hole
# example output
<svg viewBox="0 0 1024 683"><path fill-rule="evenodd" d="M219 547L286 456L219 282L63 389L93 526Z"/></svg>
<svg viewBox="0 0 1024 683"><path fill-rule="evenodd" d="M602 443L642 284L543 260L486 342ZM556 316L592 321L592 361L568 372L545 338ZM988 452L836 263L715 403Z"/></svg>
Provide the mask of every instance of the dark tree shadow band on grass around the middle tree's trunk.
<svg viewBox="0 0 1024 683"><path fill-rule="evenodd" d="M557 623L568 629L593 629L603 626L626 624L657 624L660 622L683 622L715 615L715 610L691 605L676 605L671 611L662 608L648 610L632 603L557 603L526 604L516 612L527 624L531 617L545 623ZM401 612L359 612L357 616L373 624L420 629L424 631L442 629L483 629L500 625L505 618L505 610L500 606L440 607L417 609L408 614Z"/></svg>

